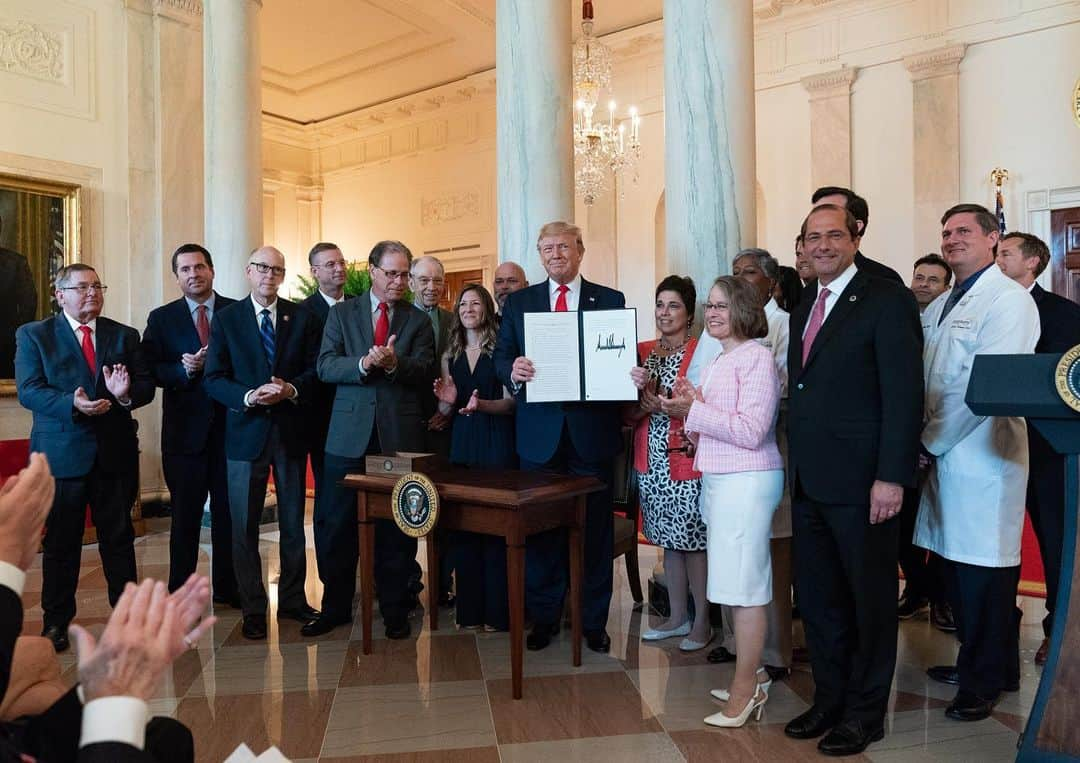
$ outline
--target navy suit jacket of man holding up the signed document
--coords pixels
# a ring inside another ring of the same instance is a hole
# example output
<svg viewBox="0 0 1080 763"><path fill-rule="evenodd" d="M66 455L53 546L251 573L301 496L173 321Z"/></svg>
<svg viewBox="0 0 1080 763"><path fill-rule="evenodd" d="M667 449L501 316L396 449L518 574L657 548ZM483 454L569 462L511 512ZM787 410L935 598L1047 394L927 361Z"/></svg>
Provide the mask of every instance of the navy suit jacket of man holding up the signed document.
<svg viewBox="0 0 1080 763"><path fill-rule="evenodd" d="M580 310L613 310L626 306L626 297L607 286L581 279ZM513 389L510 371L514 360L525 354L525 313L551 312L548 281L522 289L507 297L495 347L495 370L508 389ZM563 436L563 426L578 453L588 460L611 458L622 446L619 403L530 403L523 385L517 393L517 455L543 463L553 455Z"/></svg>

